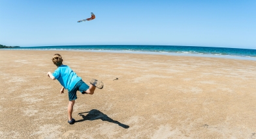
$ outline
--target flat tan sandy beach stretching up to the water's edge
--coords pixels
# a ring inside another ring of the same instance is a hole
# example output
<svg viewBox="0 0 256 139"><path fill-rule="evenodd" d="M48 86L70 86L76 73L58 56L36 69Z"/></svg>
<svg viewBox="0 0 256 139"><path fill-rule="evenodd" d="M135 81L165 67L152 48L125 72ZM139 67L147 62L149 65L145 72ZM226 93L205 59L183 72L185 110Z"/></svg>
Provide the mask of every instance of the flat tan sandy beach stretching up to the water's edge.
<svg viewBox="0 0 256 139"><path fill-rule="evenodd" d="M52 55L102 90L67 123ZM256 61L76 51L0 51L0 138L256 138ZM114 80L118 78L118 80Z"/></svg>

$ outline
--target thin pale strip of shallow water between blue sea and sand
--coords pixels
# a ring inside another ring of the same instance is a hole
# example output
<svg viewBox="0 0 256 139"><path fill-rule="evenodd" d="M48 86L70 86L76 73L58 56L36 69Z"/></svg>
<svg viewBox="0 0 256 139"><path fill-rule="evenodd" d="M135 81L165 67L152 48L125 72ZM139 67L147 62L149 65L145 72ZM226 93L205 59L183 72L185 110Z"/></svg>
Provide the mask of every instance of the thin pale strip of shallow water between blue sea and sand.
<svg viewBox="0 0 256 139"><path fill-rule="evenodd" d="M78 50L78 49L0 49L0 51L76 51L86 53L120 53L120 54L139 54L139 55L167 55L177 57L202 57L202 58L227 58L234 60L252 60L256 61L256 57L238 56L238 55L211 55L211 54L193 54L193 53L167 53L167 52L151 52L151 51L127 51L127 50Z"/></svg>

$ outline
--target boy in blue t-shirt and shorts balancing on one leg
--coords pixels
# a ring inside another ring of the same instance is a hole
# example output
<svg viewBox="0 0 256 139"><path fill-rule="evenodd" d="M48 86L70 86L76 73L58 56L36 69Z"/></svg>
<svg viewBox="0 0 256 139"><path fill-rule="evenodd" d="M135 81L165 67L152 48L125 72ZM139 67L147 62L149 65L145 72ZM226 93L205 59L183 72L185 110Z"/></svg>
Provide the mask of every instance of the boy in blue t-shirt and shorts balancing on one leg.
<svg viewBox="0 0 256 139"><path fill-rule="evenodd" d="M75 120L72 118L72 111L74 102L77 99L76 91L80 91L82 94L90 94L94 93L95 87L102 89L103 82L97 81L96 79L91 79L90 85L86 84L82 81L81 77L78 77L74 71L67 65L63 65L63 59L61 55L55 54L52 57L52 62L57 66L56 71L51 73L50 71L47 73L48 77L53 80L59 81L59 83L63 86L60 90L60 93L64 93L64 88L69 91L69 105L67 107L68 115L69 115L69 124L73 124Z"/></svg>

